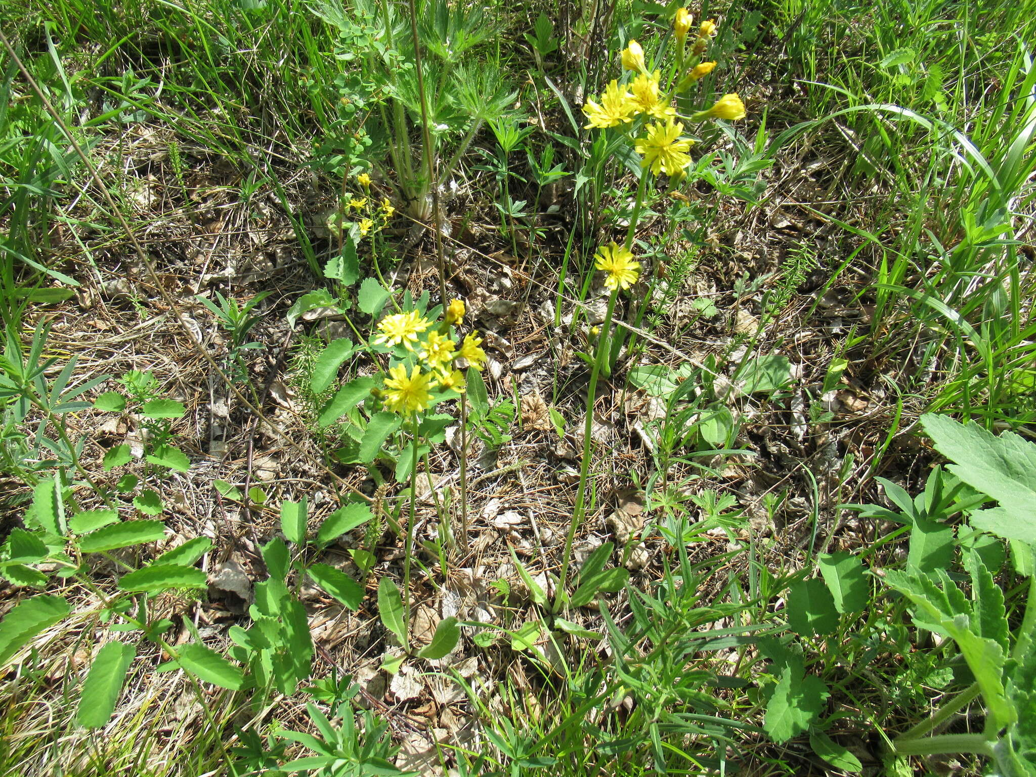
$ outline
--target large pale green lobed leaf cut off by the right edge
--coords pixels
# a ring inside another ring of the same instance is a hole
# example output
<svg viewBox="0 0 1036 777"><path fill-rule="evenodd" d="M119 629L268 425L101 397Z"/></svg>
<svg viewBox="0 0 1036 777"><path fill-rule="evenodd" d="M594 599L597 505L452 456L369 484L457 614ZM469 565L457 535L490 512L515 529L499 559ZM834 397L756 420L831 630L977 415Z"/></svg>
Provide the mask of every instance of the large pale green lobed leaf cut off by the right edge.
<svg viewBox="0 0 1036 777"><path fill-rule="evenodd" d="M978 424L945 415L921 416L936 450L955 462L947 467L976 491L988 494L999 510L971 517L975 528L998 537L1036 543L1036 443L1013 432L999 437Z"/></svg>

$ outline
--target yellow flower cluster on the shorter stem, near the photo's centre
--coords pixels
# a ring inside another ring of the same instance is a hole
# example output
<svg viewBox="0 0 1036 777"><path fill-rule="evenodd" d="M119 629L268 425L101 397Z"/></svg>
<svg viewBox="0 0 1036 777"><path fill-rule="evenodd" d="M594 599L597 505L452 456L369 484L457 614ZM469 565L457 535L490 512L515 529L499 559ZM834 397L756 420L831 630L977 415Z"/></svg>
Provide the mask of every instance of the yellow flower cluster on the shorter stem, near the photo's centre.
<svg viewBox="0 0 1036 777"><path fill-rule="evenodd" d="M459 346L451 337L451 325L463 323L464 314L464 303L454 299L437 326L418 311L393 313L378 322L374 342L386 347L402 345L414 359L409 373L403 364L388 370L381 393L388 410L404 415L427 410L437 388L462 393L464 373L457 369L457 358L476 370L485 368L487 356L478 333L466 335Z"/></svg>

